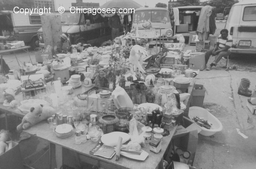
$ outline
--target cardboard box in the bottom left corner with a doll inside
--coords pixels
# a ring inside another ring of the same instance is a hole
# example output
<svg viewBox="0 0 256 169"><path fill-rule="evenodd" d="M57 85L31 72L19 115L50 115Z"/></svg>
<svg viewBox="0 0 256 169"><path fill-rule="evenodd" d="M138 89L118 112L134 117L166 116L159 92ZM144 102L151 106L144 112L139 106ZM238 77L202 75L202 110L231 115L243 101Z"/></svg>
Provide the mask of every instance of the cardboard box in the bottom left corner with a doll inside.
<svg viewBox="0 0 256 169"><path fill-rule="evenodd" d="M20 153L20 147L17 142L12 142L13 147L6 153L0 155L1 169L24 169L23 159Z"/></svg>

